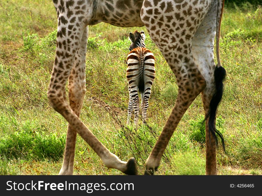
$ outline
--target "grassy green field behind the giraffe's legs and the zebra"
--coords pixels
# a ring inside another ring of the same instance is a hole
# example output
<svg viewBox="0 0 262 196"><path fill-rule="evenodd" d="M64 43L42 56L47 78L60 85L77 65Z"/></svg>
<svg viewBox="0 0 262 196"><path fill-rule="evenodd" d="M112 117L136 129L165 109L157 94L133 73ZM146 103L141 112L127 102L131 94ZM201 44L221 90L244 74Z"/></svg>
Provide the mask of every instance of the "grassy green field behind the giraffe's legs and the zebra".
<svg viewBox="0 0 262 196"><path fill-rule="evenodd" d="M221 60L227 71L217 127L225 138L225 156L217 152L219 174L260 175L262 169L262 8L245 3L225 7ZM0 174L53 175L63 160L67 122L46 96L55 54L56 13L51 1L0 3ZM86 96L81 120L122 160L138 161L139 173L171 112L178 87L174 74L145 27L146 46L156 58L156 79L147 125L126 126L125 77L128 33L100 23L89 27ZM101 74L103 73L103 74ZM201 97L177 126L157 174L205 174L205 126ZM77 137L74 174L118 175Z"/></svg>

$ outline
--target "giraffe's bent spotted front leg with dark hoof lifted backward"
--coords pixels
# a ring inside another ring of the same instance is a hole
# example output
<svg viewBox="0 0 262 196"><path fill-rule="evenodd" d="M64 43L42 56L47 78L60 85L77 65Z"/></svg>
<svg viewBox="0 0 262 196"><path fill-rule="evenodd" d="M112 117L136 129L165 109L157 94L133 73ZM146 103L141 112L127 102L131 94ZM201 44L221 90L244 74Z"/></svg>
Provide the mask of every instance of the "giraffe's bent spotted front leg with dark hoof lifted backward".
<svg viewBox="0 0 262 196"><path fill-rule="evenodd" d="M68 121L71 126L70 130L75 130L91 146L105 166L118 169L126 174L137 174L135 159L130 158L128 162L124 162L111 153L82 123L78 115L67 103L65 86L68 77L71 76L73 81L74 78L77 78L77 75L80 73L80 75L83 75L82 72L84 72L77 64L75 65L77 69L72 69L72 67L80 39L86 29L86 25L81 22L85 16L81 18L79 14L79 17L74 18L74 20L69 20L68 16L64 12L58 13L57 50L47 93L49 101L52 107Z"/></svg>

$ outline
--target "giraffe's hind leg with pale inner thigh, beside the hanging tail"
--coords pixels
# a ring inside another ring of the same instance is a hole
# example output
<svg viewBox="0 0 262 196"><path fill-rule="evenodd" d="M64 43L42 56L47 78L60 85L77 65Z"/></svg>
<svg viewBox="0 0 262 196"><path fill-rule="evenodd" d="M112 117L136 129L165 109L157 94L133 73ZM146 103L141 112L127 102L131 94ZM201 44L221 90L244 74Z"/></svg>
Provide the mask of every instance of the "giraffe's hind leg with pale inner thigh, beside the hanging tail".
<svg viewBox="0 0 262 196"><path fill-rule="evenodd" d="M206 175L216 175L216 139L210 133L208 127L208 111L210 101L216 92L214 82L214 40L216 34L216 13L217 1L210 6L210 9L197 29L192 40L192 53L198 68L205 78L206 87L202 91L202 102L205 109L206 129Z"/></svg>

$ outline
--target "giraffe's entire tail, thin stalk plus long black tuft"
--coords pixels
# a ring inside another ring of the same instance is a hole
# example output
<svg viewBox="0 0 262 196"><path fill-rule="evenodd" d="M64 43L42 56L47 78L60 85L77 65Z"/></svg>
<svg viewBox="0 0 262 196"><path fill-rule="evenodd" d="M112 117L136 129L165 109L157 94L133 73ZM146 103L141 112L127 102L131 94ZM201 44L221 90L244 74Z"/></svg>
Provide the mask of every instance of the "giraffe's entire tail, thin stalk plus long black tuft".
<svg viewBox="0 0 262 196"><path fill-rule="evenodd" d="M225 154L227 154L225 149L225 143L224 143L224 137L219 130L216 129L215 121L216 121L216 111L217 107L222 99L223 94L223 80L226 76L226 70L221 66L220 63L220 55L219 55L219 37L220 37L220 25L221 25L221 19L222 19L222 12L224 7L224 0L218 1L217 5L217 17L216 17L216 55L217 55L217 65L214 71L214 79L215 79L215 86L216 86L216 92L213 95L210 106L209 106L209 112L206 116L206 119L209 117L208 120L208 128L209 132L212 133L214 138L216 139L216 144L218 144L218 139L216 134L219 136L219 138L222 141L222 146Z"/></svg>

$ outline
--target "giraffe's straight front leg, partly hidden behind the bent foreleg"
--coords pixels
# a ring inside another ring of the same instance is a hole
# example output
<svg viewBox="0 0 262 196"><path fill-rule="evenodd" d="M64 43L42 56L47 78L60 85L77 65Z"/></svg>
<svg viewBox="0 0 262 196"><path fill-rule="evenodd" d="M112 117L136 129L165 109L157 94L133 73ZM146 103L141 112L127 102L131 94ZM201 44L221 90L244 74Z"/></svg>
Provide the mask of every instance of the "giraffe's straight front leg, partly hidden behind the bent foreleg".
<svg viewBox="0 0 262 196"><path fill-rule="evenodd" d="M74 58L73 68L68 79L69 105L74 113L79 117L85 96L85 56L88 38L88 26L85 28ZM76 70L81 70L77 75ZM66 148L60 175L73 175L74 153L76 146L77 132L68 124L66 134Z"/></svg>

